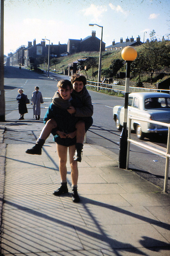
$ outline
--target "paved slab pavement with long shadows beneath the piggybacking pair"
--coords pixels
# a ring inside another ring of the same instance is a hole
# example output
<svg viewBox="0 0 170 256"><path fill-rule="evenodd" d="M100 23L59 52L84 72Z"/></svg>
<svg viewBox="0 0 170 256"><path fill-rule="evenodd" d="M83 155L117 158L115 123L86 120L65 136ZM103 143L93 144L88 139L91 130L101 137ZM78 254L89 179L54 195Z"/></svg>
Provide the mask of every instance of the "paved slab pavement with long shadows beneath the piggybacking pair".
<svg viewBox="0 0 170 256"><path fill-rule="evenodd" d="M41 156L26 154L43 122L30 110L25 120L17 118L12 111L0 125L1 255L170 255L169 194L119 169L113 152L86 143L78 163L80 203L71 200L69 163L69 195L55 197L60 175L53 137Z"/></svg>

